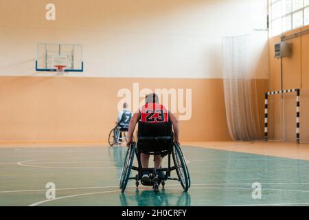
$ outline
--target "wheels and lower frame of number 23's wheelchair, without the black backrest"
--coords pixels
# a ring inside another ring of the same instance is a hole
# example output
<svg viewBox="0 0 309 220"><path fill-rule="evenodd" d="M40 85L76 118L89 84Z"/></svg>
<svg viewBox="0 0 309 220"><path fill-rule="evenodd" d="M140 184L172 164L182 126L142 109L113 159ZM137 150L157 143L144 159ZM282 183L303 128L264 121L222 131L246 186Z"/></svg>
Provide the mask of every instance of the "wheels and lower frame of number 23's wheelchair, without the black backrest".
<svg viewBox="0 0 309 220"><path fill-rule="evenodd" d="M159 192L159 181L161 181L162 188L164 188L165 181L168 179L180 181L183 190L187 192L190 188L191 180L187 164L185 162L185 156L181 151L179 144L173 142L173 146L170 152L168 152L168 167L167 168L141 168L140 161L141 152L137 151L136 142L133 142L128 146L128 151L124 159L124 166L122 168L122 175L120 177L119 188L122 189L122 192L126 190L129 179L135 179L135 185L139 186L139 181L141 181L141 175L143 171L152 172L152 179L149 185L153 186L154 192L157 194ZM151 153L150 153L151 154ZM134 155L137 156L138 166L133 166ZM171 158L172 156L172 158ZM171 162L174 162L174 166L171 166ZM136 170L137 175L135 177L130 177L130 170ZM176 170L178 178L170 177L172 170ZM163 178L159 177L159 171L165 171L165 176ZM151 173L150 173L151 174ZM151 176L151 175L150 175Z"/></svg>

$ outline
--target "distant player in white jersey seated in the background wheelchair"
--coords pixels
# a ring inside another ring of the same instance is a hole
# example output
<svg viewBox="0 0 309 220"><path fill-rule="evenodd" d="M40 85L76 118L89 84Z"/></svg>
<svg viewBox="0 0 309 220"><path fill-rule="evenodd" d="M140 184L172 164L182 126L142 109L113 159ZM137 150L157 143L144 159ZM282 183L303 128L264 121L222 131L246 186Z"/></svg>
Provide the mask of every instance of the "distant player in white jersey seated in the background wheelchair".
<svg viewBox="0 0 309 220"><path fill-rule="evenodd" d="M128 125L133 113L128 110L128 104L124 102L124 109L119 111L116 126L111 130L108 135L108 143L113 146L114 144L122 144L126 142L126 133L128 132Z"/></svg>

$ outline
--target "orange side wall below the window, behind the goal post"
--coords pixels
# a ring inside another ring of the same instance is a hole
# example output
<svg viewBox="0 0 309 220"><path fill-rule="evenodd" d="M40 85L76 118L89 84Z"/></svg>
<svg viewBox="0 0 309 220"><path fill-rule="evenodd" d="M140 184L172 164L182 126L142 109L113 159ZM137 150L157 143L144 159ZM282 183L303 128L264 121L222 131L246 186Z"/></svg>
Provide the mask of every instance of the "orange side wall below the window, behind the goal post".
<svg viewBox="0 0 309 220"><path fill-rule="evenodd" d="M295 34L301 30L307 30L308 28L309 26L298 28L287 32L284 35ZM275 43L279 41L279 36L275 36L269 40L269 89L271 91L278 89L301 89L301 142L309 142L309 34L298 36L286 41L292 44L293 50L290 57L282 58L282 77L280 69L281 61L280 59L274 58ZM279 140L282 135L284 135L284 140L295 142L295 94L272 96L270 102L269 120L271 138Z"/></svg>

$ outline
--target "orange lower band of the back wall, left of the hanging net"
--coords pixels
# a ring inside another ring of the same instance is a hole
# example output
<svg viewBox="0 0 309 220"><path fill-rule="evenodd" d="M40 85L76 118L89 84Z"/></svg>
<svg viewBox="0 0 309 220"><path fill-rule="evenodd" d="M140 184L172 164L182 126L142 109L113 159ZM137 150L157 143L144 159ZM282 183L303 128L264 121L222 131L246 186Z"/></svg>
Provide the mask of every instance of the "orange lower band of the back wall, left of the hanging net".
<svg viewBox="0 0 309 220"><path fill-rule="evenodd" d="M117 91L192 89L182 141L230 140L221 79L0 77L1 142L105 142L117 118Z"/></svg>

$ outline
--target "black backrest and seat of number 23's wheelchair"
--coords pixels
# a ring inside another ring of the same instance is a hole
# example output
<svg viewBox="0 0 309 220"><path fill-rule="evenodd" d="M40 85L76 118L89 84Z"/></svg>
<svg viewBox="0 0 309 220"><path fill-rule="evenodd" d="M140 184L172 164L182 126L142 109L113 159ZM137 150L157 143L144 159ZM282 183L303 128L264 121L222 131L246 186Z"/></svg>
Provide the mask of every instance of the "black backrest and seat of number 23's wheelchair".
<svg viewBox="0 0 309 220"><path fill-rule="evenodd" d="M137 151L150 155L167 155L172 151L173 142L172 122L139 122Z"/></svg>

